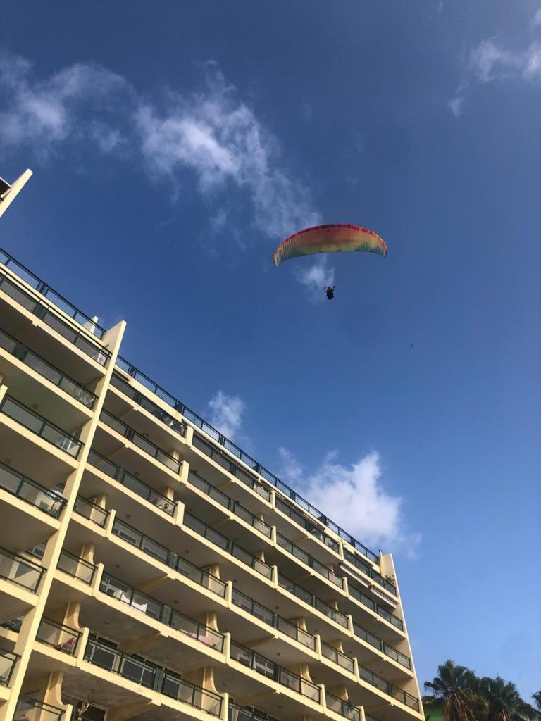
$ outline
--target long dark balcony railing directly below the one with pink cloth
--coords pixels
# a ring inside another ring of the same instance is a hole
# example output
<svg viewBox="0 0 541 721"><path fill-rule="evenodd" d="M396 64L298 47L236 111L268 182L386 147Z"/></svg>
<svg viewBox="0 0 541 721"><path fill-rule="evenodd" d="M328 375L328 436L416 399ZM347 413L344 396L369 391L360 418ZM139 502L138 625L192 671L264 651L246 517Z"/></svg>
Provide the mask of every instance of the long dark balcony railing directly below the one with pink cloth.
<svg viewBox="0 0 541 721"><path fill-rule="evenodd" d="M132 656L90 637L84 652L85 660L118 676L127 678L146 689L154 689L212 716L221 715L221 696L184 681L176 673L140 656Z"/></svg>

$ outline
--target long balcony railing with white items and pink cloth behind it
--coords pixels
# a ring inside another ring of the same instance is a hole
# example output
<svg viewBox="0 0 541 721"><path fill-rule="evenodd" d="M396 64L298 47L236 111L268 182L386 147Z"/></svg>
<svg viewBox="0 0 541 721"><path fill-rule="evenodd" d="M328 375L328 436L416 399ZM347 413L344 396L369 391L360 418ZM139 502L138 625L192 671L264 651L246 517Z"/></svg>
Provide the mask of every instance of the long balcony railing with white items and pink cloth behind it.
<svg viewBox="0 0 541 721"><path fill-rule="evenodd" d="M156 598L147 596L146 593L141 593L141 591L133 588L133 586L110 576L108 573L103 575L100 591L208 647L215 648L220 652L224 650L223 634L211 629L205 624L190 619L189 616L180 614L170 606L166 606L164 603L157 601Z"/></svg>

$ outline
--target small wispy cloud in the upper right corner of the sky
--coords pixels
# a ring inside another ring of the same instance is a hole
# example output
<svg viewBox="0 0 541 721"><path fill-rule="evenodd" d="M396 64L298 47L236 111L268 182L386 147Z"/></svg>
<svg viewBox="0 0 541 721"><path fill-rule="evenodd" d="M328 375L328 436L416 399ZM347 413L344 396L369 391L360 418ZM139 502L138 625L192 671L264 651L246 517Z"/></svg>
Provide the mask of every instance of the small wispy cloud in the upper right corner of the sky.
<svg viewBox="0 0 541 721"><path fill-rule="evenodd" d="M541 26L541 8L532 18L531 29ZM541 43L533 40L519 50L506 48L495 37L481 40L467 54L465 81L458 87L448 106L455 118L462 115L465 99L479 84L500 80L541 80Z"/></svg>

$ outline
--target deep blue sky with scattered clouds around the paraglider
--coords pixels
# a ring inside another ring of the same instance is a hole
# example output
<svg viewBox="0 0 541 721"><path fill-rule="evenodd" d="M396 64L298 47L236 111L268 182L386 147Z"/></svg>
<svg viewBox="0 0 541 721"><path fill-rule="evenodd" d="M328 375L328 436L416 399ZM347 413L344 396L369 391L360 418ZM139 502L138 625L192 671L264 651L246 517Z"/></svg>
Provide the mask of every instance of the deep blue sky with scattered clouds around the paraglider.
<svg viewBox="0 0 541 721"><path fill-rule="evenodd" d="M395 552L421 683L537 691L539 0L23 0L0 48L0 244ZM275 269L312 221L389 255Z"/></svg>

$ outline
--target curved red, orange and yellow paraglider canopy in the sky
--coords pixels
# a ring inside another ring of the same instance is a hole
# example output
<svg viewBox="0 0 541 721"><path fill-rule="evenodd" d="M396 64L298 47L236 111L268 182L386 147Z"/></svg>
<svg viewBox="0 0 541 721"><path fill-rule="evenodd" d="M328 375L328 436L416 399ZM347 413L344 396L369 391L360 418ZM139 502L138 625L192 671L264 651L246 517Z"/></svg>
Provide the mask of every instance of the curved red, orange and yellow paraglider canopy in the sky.
<svg viewBox="0 0 541 721"><path fill-rule="evenodd" d="M284 260L302 255L340 251L378 253L386 256L387 245L377 233L361 226L314 226L294 233L281 242L274 251L273 260L274 265L278 266Z"/></svg>

